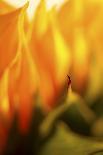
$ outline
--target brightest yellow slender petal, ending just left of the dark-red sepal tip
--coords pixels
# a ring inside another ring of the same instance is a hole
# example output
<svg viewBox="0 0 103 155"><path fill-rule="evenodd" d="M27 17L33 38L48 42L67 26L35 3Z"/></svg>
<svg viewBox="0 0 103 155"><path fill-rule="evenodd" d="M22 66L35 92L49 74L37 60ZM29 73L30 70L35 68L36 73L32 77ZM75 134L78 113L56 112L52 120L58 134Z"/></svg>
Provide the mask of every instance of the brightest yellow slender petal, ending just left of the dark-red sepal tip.
<svg viewBox="0 0 103 155"><path fill-rule="evenodd" d="M50 15L51 31L54 40L54 56L55 56L55 80L58 83L64 82L67 74L70 71L71 51L69 43L67 45L65 38L60 33L55 12Z"/></svg>

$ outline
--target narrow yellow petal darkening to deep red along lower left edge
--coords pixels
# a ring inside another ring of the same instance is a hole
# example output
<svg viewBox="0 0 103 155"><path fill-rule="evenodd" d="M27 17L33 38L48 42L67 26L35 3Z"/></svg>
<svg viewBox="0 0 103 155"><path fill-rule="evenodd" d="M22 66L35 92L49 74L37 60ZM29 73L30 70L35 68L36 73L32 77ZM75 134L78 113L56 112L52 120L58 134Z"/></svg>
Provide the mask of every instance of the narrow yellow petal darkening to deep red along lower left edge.
<svg viewBox="0 0 103 155"><path fill-rule="evenodd" d="M10 127L10 107L8 96L9 70L6 69L4 75L0 79L0 154L5 146L7 139L7 130Z"/></svg>

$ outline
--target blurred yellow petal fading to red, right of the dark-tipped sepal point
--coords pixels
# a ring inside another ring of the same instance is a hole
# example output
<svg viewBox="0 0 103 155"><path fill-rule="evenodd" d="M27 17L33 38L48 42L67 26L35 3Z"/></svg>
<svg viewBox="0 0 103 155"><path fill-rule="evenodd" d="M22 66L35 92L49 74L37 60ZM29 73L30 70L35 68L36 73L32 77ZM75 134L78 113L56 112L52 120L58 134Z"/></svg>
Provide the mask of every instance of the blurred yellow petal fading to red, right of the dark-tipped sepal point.
<svg viewBox="0 0 103 155"><path fill-rule="evenodd" d="M87 85L86 82L89 73L90 53L88 41L82 28L74 30L73 52L73 87L76 91L83 93L82 88Z"/></svg>

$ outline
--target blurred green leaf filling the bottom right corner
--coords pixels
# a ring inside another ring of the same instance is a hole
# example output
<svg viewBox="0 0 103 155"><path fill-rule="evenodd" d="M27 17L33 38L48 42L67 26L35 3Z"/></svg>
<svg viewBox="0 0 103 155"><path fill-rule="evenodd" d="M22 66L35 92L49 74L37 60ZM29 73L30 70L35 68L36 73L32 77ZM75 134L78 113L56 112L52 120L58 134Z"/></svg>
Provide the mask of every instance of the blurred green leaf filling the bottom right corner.
<svg viewBox="0 0 103 155"><path fill-rule="evenodd" d="M55 134L45 143L39 155L92 155L96 151L103 154L102 150L103 142L79 136L64 124L58 124Z"/></svg>

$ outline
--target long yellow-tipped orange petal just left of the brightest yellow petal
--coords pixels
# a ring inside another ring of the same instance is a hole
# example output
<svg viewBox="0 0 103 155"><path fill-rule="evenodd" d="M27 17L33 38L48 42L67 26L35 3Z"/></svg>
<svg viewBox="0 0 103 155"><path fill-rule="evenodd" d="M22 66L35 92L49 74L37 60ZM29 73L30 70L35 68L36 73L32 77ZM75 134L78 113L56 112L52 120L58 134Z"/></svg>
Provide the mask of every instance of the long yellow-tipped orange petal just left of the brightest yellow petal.
<svg viewBox="0 0 103 155"><path fill-rule="evenodd" d="M51 31L48 30L48 13L44 1L40 2L36 15L31 37L32 54L40 75L40 92L44 102L50 102L54 95L54 82L51 75L54 66L54 50Z"/></svg>

